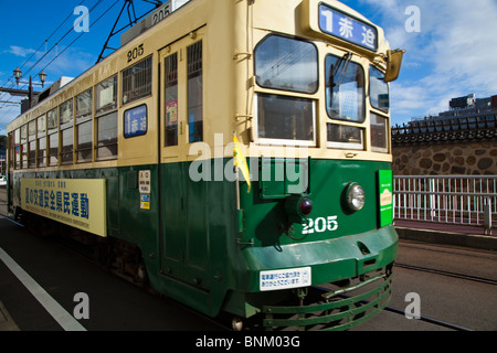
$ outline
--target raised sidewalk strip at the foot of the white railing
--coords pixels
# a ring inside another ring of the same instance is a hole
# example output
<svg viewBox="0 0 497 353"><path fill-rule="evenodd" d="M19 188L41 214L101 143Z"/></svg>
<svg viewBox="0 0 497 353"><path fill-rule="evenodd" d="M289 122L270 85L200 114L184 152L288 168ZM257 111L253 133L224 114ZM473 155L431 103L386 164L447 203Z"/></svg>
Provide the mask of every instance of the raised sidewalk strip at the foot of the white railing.
<svg viewBox="0 0 497 353"><path fill-rule="evenodd" d="M401 239L497 250L497 229L484 235L483 227L395 220Z"/></svg>

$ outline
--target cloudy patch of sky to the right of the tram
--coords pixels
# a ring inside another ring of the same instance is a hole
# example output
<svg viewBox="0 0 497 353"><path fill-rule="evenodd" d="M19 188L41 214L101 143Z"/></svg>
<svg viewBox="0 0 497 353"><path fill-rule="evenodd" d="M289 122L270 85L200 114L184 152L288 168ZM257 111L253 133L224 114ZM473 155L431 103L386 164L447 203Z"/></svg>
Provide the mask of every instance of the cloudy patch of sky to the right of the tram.
<svg viewBox="0 0 497 353"><path fill-rule="evenodd" d="M497 94L495 0L359 2L378 9L378 18L372 20L384 28L391 46L408 51L400 81L392 84L394 114L409 119L411 111L427 115L446 110L452 97ZM405 30L410 6L421 11L419 33Z"/></svg>

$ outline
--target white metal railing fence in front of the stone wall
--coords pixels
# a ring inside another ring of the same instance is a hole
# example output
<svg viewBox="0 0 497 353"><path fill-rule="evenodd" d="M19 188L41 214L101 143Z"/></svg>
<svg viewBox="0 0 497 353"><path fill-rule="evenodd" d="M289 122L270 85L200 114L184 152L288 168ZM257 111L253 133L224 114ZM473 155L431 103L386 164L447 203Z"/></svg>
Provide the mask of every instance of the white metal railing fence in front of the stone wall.
<svg viewBox="0 0 497 353"><path fill-rule="evenodd" d="M497 224L497 175L394 176L394 218L482 226Z"/></svg>

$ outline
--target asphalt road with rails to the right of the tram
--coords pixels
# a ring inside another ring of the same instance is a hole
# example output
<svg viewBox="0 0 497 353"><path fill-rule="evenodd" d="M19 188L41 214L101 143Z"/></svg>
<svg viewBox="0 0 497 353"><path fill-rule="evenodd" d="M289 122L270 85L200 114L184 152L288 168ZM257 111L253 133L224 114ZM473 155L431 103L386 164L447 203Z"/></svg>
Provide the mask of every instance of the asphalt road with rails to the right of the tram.
<svg viewBox="0 0 497 353"><path fill-rule="evenodd" d="M497 278L496 252L401 240L398 263L486 279ZM393 272L390 307L405 311L413 303L413 299L406 296L417 293L421 315L475 331L497 331L497 286L396 266ZM355 330L450 331L388 311Z"/></svg>

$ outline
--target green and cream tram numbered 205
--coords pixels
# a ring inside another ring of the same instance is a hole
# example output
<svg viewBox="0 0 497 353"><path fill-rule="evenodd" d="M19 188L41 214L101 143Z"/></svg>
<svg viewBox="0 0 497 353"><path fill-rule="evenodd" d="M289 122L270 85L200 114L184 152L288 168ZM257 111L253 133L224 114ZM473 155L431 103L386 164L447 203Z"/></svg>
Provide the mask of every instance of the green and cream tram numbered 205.
<svg viewBox="0 0 497 353"><path fill-rule="evenodd" d="M334 0L191 0L152 24L9 125L11 216L81 231L211 317L347 329L379 312L402 52Z"/></svg>

